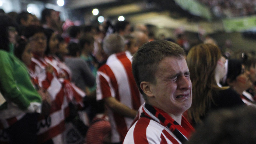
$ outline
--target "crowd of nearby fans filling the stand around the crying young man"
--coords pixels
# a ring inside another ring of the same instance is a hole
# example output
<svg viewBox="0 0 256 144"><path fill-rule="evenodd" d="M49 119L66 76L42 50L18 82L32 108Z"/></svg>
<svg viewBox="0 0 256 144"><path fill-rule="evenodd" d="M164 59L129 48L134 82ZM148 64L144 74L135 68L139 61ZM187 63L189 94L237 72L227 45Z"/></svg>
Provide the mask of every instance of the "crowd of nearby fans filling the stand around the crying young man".
<svg viewBox="0 0 256 144"><path fill-rule="evenodd" d="M155 39L127 20L67 26L47 8L41 21L0 20L0 143L255 142L223 137L228 126L254 132L251 53Z"/></svg>

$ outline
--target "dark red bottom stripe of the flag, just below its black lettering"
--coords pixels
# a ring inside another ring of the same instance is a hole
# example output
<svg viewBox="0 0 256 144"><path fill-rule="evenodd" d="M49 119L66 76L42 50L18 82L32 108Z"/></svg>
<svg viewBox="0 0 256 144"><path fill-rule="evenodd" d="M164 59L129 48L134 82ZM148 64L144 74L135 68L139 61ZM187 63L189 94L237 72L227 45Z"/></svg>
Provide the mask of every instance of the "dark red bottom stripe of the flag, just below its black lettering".
<svg viewBox="0 0 256 144"><path fill-rule="evenodd" d="M38 135L38 142L44 143L49 139L53 138L54 136L61 134L62 132L64 132L64 130L65 130L65 121L63 120L61 123L59 123L55 127L52 127L48 131Z"/></svg>

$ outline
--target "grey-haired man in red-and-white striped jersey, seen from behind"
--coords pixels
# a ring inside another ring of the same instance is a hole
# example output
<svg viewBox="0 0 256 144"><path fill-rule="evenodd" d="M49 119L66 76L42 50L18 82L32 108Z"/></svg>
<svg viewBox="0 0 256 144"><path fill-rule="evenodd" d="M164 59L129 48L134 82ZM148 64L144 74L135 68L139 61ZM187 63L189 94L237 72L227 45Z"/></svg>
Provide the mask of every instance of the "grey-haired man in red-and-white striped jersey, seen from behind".
<svg viewBox="0 0 256 144"><path fill-rule="evenodd" d="M96 75L97 100L104 100L111 124L111 143L122 143L137 110L144 102L132 75L131 53L124 51L123 38L117 34L103 40L108 55Z"/></svg>

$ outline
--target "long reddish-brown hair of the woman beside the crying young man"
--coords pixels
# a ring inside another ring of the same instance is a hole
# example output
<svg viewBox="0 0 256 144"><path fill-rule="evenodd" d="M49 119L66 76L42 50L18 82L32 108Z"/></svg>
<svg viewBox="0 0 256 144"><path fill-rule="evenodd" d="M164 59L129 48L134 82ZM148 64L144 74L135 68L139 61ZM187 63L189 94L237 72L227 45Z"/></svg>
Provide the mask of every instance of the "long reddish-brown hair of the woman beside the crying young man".
<svg viewBox="0 0 256 144"><path fill-rule="evenodd" d="M192 105L188 109L189 119L201 122L213 101L212 92L220 88L215 80L215 69L221 57L220 49L212 44L199 44L190 49L187 64L192 82Z"/></svg>

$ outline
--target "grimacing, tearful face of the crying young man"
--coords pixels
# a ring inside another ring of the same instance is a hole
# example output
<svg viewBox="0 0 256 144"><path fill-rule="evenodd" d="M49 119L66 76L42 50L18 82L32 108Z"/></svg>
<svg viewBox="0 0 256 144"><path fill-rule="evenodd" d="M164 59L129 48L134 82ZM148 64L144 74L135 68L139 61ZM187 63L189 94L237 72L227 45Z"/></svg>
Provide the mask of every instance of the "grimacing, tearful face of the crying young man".
<svg viewBox="0 0 256 144"><path fill-rule="evenodd" d="M186 60L165 57L155 73L156 83L152 84L151 105L168 114L179 116L191 106L192 84Z"/></svg>

